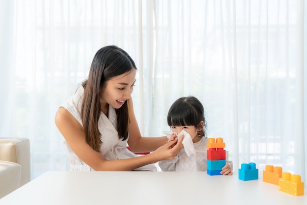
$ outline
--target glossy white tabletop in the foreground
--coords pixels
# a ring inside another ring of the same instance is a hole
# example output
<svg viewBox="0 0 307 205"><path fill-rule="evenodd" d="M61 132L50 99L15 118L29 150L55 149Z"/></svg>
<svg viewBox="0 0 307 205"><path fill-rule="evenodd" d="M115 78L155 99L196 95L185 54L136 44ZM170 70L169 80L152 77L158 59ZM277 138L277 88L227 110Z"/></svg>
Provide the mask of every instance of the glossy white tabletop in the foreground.
<svg viewBox="0 0 307 205"><path fill-rule="evenodd" d="M47 172L0 205L307 205L261 179L206 172Z"/></svg>

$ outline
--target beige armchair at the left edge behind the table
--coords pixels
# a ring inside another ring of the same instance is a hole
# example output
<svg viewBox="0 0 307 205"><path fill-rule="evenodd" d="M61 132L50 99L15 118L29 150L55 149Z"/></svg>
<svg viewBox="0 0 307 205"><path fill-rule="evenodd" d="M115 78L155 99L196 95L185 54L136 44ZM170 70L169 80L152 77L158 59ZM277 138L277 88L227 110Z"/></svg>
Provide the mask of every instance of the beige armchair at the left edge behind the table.
<svg viewBox="0 0 307 205"><path fill-rule="evenodd" d="M29 139L0 137L0 198L30 179Z"/></svg>

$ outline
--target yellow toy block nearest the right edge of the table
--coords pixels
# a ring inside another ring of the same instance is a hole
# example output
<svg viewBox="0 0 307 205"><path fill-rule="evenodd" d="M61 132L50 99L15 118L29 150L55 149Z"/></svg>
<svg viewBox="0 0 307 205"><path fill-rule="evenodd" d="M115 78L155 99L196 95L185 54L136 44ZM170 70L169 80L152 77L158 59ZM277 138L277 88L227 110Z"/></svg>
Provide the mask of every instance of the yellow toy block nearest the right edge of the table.
<svg viewBox="0 0 307 205"><path fill-rule="evenodd" d="M278 189L294 196L301 196L304 195L304 182L301 181L300 175L283 172L279 179Z"/></svg>

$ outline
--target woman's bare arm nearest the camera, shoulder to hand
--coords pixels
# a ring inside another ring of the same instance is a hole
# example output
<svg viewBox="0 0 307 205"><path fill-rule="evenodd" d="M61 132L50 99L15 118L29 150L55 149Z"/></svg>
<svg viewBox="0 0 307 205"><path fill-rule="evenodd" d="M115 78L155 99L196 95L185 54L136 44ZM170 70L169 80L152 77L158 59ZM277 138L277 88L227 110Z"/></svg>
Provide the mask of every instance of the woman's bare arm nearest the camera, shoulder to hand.
<svg viewBox="0 0 307 205"><path fill-rule="evenodd" d="M65 108L56 112L55 124L66 142L77 156L96 171L130 171L163 159L171 159L183 148L182 139L172 149L170 143L159 147L155 152L140 157L119 160L106 160L102 153L93 150L85 141L82 126Z"/></svg>

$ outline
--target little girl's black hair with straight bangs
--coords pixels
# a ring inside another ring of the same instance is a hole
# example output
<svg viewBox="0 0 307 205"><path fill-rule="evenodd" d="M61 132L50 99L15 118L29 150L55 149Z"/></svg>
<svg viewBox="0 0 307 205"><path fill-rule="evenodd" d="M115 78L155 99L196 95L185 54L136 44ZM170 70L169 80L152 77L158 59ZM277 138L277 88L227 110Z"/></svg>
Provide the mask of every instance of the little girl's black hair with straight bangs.
<svg viewBox="0 0 307 205"><path fill-rule="evenodd" d="M207 122L203 104L194 96L182 97L175 101L167 114L169 126L194 126L200 128L204 121L204 128L199 131L201 137L206 136Z"/></svg>

